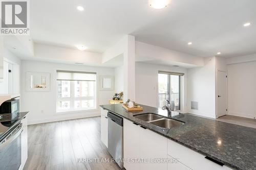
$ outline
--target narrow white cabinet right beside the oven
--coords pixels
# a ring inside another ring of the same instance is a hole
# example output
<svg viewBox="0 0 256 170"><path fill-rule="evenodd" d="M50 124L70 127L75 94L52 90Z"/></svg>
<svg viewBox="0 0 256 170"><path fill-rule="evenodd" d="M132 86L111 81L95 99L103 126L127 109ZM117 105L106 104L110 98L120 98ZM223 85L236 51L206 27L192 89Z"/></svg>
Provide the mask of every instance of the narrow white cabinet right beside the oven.
<svg viewBox="0 0 256 170"><path fill-rule="evenodd" d="M28 116L28 115L27 115ZM22 163L19 169L23 169L28 158L28 118L22 119Z"/></svg>

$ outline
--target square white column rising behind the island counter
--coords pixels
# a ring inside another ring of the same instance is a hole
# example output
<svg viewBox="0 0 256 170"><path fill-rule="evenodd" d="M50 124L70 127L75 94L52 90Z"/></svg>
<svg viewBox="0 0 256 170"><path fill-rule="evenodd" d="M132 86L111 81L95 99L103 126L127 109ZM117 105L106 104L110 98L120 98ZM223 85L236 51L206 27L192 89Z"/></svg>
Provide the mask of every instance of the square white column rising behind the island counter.
<svg viewBox="0 0 256 170"><path fill-rule="evenodd" d="M125 36L123 52L123 100L135 101L135 37Z"/></svg>

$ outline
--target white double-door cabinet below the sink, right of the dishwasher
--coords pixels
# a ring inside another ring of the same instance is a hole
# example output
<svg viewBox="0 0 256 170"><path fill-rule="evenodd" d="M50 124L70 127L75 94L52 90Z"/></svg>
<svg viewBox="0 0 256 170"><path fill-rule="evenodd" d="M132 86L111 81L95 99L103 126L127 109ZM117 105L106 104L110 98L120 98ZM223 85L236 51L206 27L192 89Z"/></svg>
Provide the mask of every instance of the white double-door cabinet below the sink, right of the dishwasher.
<svg viewBox="0 0 256 170"><path fill-rule="evenodd" d="M135 125L130 120L123 120L123 157L126 170L167 169L167 163L152 162L167 158L167 138ZM131 159L146 161L132 163ZM129 161L130 162L127 162ZM149 162L149 163L148 163Z"/></svg>

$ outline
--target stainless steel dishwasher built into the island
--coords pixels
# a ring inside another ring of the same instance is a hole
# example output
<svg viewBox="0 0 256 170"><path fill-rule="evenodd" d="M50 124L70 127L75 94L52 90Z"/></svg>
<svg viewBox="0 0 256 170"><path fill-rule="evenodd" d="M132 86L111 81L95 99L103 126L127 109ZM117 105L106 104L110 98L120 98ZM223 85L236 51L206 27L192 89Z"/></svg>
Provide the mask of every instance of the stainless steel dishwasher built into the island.
<svg viewBox="0 0 256 170"><path fill-rule="evenodd" d="M123 118L108 112L108 151L123 168Z"/></svg>

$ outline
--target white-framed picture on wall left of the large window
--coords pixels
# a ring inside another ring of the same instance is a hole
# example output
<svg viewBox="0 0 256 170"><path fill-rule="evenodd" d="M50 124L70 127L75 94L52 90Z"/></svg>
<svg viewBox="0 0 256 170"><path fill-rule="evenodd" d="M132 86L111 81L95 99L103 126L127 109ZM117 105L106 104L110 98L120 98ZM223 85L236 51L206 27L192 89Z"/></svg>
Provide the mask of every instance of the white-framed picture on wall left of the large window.
<svg viewBox="0 0 256 170"><path fill-rule="evenodd" d="M26 72L26 91L50 91L50 73Z"/></svg>

